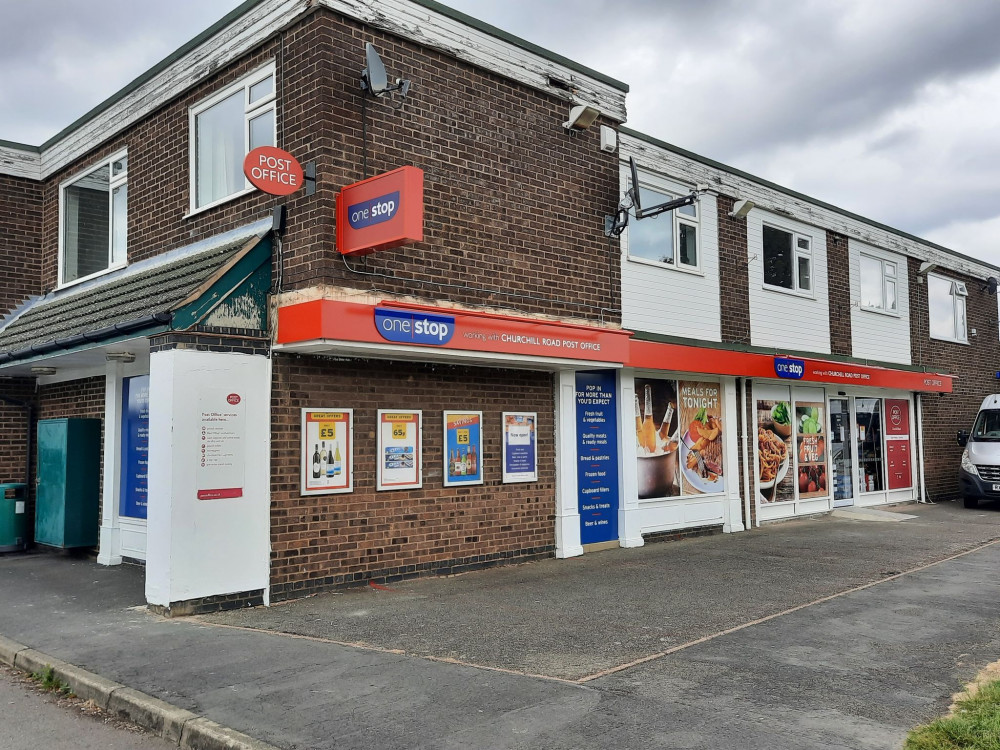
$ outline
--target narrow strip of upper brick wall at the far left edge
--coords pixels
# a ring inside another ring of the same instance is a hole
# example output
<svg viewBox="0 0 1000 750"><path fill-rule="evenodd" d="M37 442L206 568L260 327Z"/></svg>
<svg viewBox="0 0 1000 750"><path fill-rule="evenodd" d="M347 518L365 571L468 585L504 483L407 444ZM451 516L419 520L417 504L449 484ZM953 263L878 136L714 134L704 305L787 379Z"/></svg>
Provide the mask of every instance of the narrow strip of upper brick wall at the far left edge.
<svg viewBox="0 0 1000 750"><path fill-rule="evenodd" d="M0 315L41 291L42 186L0 174Z"/></svg>

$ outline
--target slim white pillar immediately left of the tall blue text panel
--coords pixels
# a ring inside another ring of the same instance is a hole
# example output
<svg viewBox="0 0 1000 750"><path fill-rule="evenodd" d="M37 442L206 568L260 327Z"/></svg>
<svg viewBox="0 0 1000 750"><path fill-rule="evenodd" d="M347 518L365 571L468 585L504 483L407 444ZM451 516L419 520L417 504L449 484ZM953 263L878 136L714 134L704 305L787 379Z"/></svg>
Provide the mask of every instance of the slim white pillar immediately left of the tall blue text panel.
<svg viewBox="0 0 1000 750"><path fill-rule="evenodd" d="M556 557L583 554L576 487L576 373L556 376Z"/></svg>

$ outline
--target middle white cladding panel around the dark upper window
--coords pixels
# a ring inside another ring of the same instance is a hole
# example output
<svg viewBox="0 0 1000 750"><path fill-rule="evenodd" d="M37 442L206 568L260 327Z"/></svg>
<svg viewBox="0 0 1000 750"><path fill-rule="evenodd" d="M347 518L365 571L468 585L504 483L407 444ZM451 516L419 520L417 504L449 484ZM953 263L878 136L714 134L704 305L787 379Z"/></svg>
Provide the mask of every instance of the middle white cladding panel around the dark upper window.
<svg viewBox="0 0 1000 750"><path fill-rule="evenodd" d="M813 294L764 288L763 225L810 238ZM830 303L826 232L760 209L747 216L747 272L750 281L750 343L781 351L830 353Z"/></svg>

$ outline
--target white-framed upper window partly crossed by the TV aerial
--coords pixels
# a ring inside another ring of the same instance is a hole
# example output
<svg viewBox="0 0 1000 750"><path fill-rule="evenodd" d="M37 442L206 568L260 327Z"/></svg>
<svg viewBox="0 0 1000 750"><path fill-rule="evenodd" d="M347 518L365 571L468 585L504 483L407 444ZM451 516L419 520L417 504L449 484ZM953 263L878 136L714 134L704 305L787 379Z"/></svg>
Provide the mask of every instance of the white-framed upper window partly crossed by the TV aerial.
<svg viewBox="0 0 1000 750"><path fill-rule="evenodd" d="M639 185L639 203L652 208L681 197L681 192L669 192L662 186ZM628 258L644 263L677 268L682 271L701 269L698 204L682 206L648 219L630 219L628 223Z"/></svg>

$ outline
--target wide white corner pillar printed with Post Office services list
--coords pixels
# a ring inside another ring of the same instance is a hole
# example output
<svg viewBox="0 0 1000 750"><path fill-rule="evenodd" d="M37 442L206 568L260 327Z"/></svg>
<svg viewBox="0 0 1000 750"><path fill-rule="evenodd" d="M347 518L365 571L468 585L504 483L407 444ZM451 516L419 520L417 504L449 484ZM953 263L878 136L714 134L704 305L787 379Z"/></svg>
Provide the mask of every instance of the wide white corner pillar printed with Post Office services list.
<svg viewBox="0 0 1000 750"><path fill-rule="evenodd" d="M146 599L169 606L263 589L266 601L269 360L171 349L150 355L149 376ZM213 412L223 416L215 419ZM228 455L228 468L210 466L211 476L200 468L206 424L231 430L220 453ZM222 473L227 492L207 492L218 489L207 485Z"/></svg>

